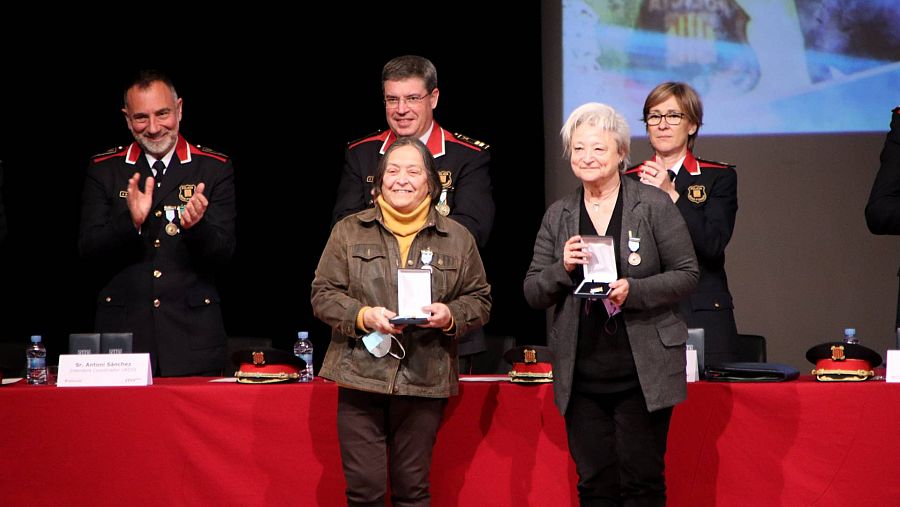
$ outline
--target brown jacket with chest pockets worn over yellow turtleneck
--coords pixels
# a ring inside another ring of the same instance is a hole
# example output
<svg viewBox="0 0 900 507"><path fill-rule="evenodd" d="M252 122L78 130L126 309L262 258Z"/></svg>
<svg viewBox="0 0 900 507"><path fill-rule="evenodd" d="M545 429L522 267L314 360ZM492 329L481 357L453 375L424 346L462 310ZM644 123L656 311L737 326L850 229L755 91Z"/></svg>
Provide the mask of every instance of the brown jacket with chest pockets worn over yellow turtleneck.
<svg viewBox="0 0 900 507"><path fill-rule="evenodd" d="M406 357L377 358L363 345L356 316L363 306L396 311L400 248L377 207L335 224L312 283L313 313L332 328L321 376L343 387L385 394L446 398L457 393L457 338L487 323L491 287L472 235L434 208L404 267L421 268L426 249L433 252L432 301L450 308L453 334L407 326L397 337Z"/></svg>

